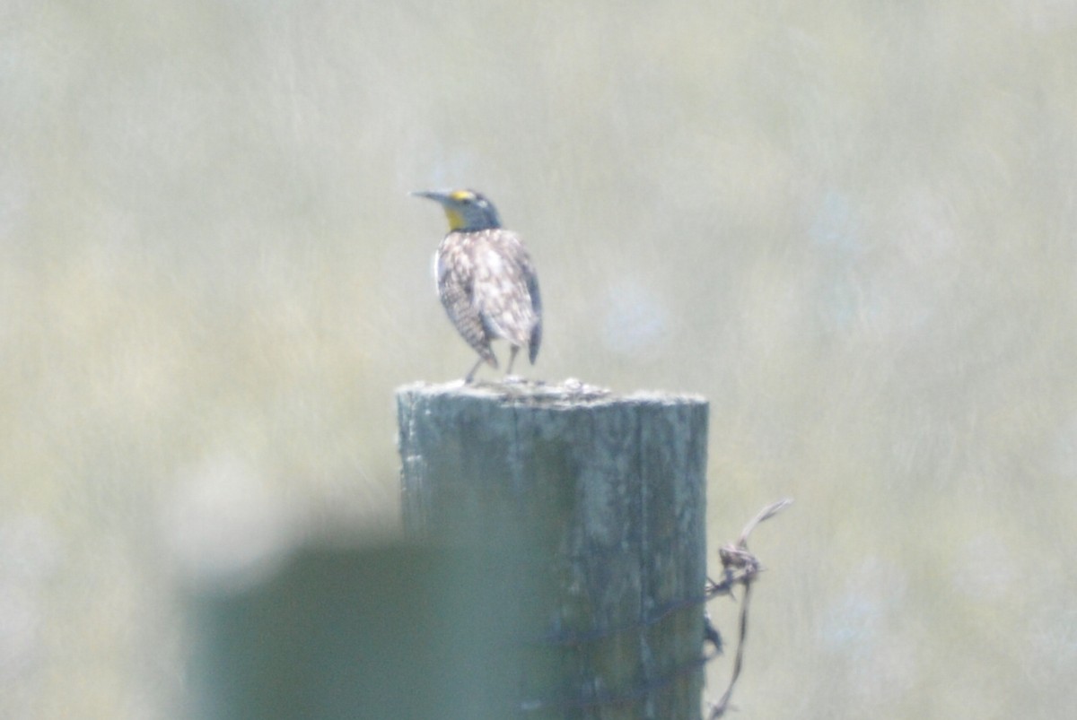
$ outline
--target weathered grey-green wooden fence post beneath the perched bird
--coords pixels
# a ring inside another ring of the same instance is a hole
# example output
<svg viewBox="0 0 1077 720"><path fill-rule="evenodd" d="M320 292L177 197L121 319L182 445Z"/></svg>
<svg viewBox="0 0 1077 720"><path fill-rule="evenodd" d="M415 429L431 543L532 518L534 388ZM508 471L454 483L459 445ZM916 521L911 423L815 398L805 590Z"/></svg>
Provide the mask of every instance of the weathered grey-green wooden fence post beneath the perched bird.
<svg viewBox="0 0 1077 720"><path fill-rule="evenodd" d="M506 717L699 718L705 400L572 381L396 397L405 530L518 590Z"/></svg>

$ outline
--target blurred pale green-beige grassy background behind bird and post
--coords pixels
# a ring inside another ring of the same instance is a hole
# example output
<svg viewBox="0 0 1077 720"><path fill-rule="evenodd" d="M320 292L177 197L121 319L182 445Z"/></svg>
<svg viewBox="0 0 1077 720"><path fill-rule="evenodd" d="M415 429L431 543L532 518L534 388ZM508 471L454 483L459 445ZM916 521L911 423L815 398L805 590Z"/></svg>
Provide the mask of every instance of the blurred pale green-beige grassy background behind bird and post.
<svg viewBox="0 0 1077 720"><path fill-rule="evenodd" d="M395 532L446 186L527 375L711 400L712 553L796 499L738 717L1066 715L1075 118L1065 0L5 2L0 716L177 717L192 576Z"/></svg>

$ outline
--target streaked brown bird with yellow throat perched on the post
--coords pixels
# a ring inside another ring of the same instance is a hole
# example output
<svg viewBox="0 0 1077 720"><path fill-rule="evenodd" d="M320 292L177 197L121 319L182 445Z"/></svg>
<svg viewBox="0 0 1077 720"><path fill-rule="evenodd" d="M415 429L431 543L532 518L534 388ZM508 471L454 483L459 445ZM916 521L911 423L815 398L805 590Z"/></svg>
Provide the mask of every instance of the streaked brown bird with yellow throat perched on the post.
<svg viewBox="0 0 1077 720"><path fill-rule="evenodd" d="M412 195L436 200L449 218L449 232L434 256L434 277L449 320L479 354L464 382L484 362L498 367L490 349L498 338L512 347L506 376L523 345L534 365L542 342L542 300L538 277L519 236L501 227L493 203L474 190Z"/></svg>

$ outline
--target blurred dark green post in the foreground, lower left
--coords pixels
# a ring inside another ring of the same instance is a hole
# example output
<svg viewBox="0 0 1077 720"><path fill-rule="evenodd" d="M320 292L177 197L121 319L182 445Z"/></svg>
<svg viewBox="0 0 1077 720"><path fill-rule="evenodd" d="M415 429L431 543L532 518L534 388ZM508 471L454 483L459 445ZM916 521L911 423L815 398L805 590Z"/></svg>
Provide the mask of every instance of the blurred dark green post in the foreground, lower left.
<svg viewBox="0 0 1077 720"><path fill-rule="evenodd" d="M518 662L495 557L410 543L305 550L194 599L199 719L506 717Z"/></svg>

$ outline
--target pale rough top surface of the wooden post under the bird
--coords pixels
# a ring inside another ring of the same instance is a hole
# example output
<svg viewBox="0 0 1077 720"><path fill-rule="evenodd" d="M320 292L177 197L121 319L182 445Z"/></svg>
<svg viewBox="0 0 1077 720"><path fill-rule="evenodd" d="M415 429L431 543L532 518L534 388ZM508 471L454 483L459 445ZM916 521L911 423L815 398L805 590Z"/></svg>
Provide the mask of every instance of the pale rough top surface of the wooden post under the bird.
<svg viewBox="0 0 1077 720"><path fill-rule="evenodd" d="M644 405L705 405L701 395L668 393L663 391L635 391L631 394L615 393L607 387L590 385L575 378L547 382L510 378L505 382L472 382L464 384L458 380L447 383L416 382L396 389L397 395L426 397L466 397L487 399L508 405L541 407L579 407L595 405L644 404Z"/></svg>

